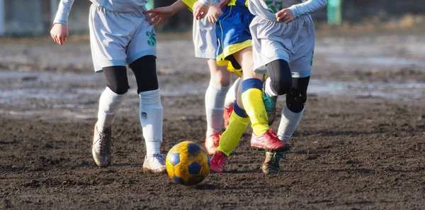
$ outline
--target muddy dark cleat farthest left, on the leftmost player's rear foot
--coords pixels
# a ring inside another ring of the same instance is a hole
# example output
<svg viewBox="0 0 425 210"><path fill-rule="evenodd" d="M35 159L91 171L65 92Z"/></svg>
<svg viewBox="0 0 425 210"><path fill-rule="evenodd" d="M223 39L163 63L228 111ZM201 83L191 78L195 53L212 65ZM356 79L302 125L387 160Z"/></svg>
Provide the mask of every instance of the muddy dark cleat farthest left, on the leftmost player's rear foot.
<svg viewBox="0 0 425 210"><path fill-rule="evenodd" d="M111 165L111 145L112 135L111 127L104 128L99 132L97 126L94 126L93 145L91 145L91 154L94 162L100 167Z"/></svg>

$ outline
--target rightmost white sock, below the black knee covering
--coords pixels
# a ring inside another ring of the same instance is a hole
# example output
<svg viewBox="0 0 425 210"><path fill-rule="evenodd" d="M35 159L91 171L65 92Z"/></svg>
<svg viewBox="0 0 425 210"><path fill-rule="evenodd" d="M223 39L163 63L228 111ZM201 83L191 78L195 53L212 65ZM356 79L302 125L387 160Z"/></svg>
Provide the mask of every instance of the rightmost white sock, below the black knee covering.
<svg viewBox="0 0 425 210"><path fill-rule="evenodd" d="M278 129L278 137L283 142L287 143L289 138L293 135L295 129L300 123L302 114L305 109L302 109L299 113L295 113L288 109L288 106L282 109L282 118L280 118L280 124Z"/></svg>

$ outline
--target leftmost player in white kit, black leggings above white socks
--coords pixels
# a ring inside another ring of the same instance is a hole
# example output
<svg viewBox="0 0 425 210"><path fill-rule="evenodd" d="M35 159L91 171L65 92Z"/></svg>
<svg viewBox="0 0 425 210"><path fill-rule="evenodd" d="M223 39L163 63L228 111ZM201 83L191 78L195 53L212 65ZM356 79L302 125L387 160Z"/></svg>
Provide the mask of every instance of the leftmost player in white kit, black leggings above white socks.
<svg viewBox="0 0 425 210"><path fill-rule="evenodd" d="M128 86L128 64L137 81L140 96L140 123L146 143L143 170L166 172L162 143L163 108L156 69L157 39L146 20L146 1L91 0L89 26L94 70L103 72L106 89L101 94L98 121L94 127L92 154L100 167L111 164L111 127L120 110ZM50 31L53 40L64 44L67 19L74 0L61 0Z"/></svg>

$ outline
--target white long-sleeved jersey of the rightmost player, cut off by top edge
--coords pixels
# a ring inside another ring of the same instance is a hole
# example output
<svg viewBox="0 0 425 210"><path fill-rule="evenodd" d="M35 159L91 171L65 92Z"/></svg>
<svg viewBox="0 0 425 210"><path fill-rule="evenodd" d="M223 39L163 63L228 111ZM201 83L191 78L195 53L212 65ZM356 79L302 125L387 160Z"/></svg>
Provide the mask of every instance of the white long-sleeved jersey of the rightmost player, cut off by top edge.
<svg viewBox="0 0 425 210"><path fill-rule="evenodd" d="M282 9L290 9L298 18L321 10L326 4L327 0L249 0L248 7L254 16L277 22L276 13Z"/></svg>

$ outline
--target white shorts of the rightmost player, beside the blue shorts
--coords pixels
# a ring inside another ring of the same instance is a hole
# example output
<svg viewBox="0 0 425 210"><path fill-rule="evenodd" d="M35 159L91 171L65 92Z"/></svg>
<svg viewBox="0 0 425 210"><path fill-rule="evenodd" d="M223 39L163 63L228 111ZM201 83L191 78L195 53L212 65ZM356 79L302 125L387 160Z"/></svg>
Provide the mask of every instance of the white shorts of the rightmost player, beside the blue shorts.
<svg viewBox="0 0 425 210"><path fill-rule="evenodd" d="M286 60L293 77L312 72L314 24L311 16L300 16L287 24L256 16L250 25L254 72L266 74L266 64Z"/></svg>

